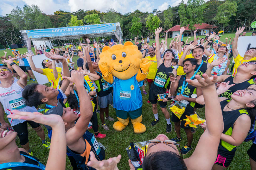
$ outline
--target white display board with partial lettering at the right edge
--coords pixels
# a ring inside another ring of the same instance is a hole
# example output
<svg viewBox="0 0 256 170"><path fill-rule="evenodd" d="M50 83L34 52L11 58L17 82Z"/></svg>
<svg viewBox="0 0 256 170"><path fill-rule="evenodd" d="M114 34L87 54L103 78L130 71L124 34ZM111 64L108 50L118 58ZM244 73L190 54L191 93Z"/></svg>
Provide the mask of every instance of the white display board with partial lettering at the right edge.
<svg viewBox="0 0 256 170"><path fill-rule="evenodd" d="M247 51L248 46L256 47L256 36L241 36L238 38L237 50L238 53L243 57Z"/></svg>

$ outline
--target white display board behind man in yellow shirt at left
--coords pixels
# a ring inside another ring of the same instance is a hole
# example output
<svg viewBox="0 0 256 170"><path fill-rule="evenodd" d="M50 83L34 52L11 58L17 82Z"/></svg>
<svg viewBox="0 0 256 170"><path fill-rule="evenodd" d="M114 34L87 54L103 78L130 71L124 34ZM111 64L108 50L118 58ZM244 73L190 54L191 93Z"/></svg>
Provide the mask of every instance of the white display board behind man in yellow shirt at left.
<svg viewBox="0 0 256 170"><path fill-rule="evenodd" d="M41 55L36 55L36 56L32 56L32 60L35 64L35 67L36 68L40 68L40 69L43 69L43 66L42 66L42 61L43 60L50 60L49 58L47 58L45 56L45 54L41 54ZM29 62L28 58L27 58L27 61ZM30 65L30 63L29 63ZM32 70L34 75L35 75L35 78L37 79L37 82L39 84L45 84L45 83L48 83L48 79L46 77L46 75L42 75L40 73L37 73L36 71Z"/></svg>

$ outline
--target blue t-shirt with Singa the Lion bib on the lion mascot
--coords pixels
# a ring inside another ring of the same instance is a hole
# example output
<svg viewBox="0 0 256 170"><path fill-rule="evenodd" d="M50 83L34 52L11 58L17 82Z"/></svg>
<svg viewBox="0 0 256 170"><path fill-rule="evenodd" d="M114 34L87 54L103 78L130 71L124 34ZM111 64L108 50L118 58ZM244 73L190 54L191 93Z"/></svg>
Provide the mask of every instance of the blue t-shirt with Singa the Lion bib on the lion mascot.
<svg viewBox="0 0 256 170"><path fill-rule="evenodd" d="M121 80L114 77L113 84L113 101L114 108L122 111L134 111L142 107L142 96L139 87L143 85L143 81L138 82L136 79L137 74L127 80Z"/></svg>

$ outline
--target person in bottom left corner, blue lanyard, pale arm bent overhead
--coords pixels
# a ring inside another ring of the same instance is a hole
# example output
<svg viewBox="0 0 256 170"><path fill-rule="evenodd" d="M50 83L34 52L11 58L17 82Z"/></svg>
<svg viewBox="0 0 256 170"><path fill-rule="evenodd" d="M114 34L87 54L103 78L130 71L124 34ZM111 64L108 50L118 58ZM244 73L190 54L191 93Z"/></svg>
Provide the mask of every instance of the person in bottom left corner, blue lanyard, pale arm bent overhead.
<svg viewBox="0 0 256 170"><path fill-rule="evenodd" d="M13 114L8 115L11 119L24 119L34 121L39 124L51 126L53 129L51 138L51 148L47 160L47 167L64 170L66 167L66 140L65 125L59 115L44 115L38 112L20 112L13 110ZM17 132L0 128L0 169L1 170L43 170L46 168L39 160L24 149L18 148L15 143ZM60 140L61 139L61 140ZM64 139L64 140L63 140Z"/></svg>

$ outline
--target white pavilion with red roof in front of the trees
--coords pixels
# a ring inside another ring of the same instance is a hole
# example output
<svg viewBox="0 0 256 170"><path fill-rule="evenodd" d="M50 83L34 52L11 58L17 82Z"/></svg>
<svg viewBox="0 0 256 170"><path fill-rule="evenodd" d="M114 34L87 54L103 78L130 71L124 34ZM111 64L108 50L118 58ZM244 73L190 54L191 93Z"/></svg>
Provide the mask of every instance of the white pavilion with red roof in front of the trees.
<svg viewBox="0 0 256 170"><path fill-rule="evenodd" d="M189 26L189 25L188 25ZM189 29L189 27L185 27L185 31L183 33L183 36L194 36L194 30L195 29ZM165 32L169 31L168 37L175 37L176 35L179 34L179 30L181 28L181 25L175 25L174 27L171 27L170 29L166 30ZM208 32L211 32L212 29L217 28L214 25L202 23L202 24L195 24L194 28L197 28L197 35L205 35Z"/></svg>

